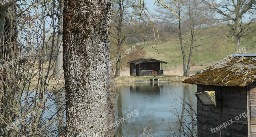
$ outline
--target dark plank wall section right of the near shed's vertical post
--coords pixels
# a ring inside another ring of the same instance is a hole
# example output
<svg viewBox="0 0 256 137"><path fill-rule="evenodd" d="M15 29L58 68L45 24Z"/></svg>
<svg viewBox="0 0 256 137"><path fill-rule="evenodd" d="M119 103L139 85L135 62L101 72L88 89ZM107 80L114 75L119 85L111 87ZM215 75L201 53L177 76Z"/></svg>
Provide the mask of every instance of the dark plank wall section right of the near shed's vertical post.
<svg viewBox="0 0 256 137"><path fill-rule="evenodd" d="M247 87L221 86L221 124L227 120L236 121L221 129L221 136L247 137L247 117L236 116L245 113L247 116Z"/></svg>

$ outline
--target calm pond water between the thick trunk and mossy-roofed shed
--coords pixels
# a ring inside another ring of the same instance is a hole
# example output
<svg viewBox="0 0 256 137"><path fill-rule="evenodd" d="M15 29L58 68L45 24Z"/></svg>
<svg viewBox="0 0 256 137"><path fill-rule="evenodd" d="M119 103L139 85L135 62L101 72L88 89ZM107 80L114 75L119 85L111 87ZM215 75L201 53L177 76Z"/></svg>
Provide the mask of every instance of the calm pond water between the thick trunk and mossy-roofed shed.
<svg viewBox="0 0 256 137"><path fill-rule="evenodd" d="M146 131L150 130L151 136L153 134L154 137L169 136L171 133L167 124L176 128L180 126L177 123L177 118L170 112L172 106L175 106L179 113L182 112L182 108L178 106L181 104L177 100L181 103L182 99L186 100L196 110L196 96L194 95L196 85L183 83L130 84L116 85L116 88L119 97L116 104L115 121L119 119L123 121L123 117L127 119L116 127L116 137L121 137L118 134L125 137L140 137L148 124L150 125ZM132 114L131 112L133 112L133 116L127 118L130 116L129 114Z"/></svg>

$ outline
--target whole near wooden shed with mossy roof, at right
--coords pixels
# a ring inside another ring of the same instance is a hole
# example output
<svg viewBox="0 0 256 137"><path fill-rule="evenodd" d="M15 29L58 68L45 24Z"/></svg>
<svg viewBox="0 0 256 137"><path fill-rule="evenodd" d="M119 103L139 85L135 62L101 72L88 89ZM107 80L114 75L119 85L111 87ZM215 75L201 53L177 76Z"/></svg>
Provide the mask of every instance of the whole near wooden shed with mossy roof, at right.
<svg viewBox="0 0 256 137"><path fill-rule="evenodd" d="M197 85L198 137L256 136L254 54L224 58L183 83Z"/></svg>

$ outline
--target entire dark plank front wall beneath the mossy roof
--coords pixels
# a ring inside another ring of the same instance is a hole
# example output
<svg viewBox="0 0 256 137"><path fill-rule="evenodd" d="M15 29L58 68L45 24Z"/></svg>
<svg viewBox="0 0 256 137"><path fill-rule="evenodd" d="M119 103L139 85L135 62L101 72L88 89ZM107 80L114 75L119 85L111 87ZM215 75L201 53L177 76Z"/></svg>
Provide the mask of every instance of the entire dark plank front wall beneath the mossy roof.
<svg viewBox="0 0 256 137"><path fill-rule="evenodd" d="M197 92L219 91L221 100L216 101L216 106L203 106L197 99L198 137L219 136L247 136L247 118L243 118L228 125L226 128L211 132L215 128L227 122L235 120L242 113L247 115L247 88L234 86L203 86L197 85Z"/></svg>

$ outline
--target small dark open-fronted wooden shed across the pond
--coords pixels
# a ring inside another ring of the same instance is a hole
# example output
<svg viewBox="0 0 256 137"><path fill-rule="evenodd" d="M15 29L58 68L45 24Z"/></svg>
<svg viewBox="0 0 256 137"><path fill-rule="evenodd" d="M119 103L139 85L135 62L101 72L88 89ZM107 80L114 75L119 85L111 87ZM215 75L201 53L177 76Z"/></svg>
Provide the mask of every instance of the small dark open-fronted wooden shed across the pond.
<svg viewBox="0 0 256 137"><path fill-rule="evenodd" d="M153 76L163 75L163 63L167 62L156 60L153 58L140 58L128 62L130 64L131 76ZM161 69L160 69L161 63Z"/></svg>

